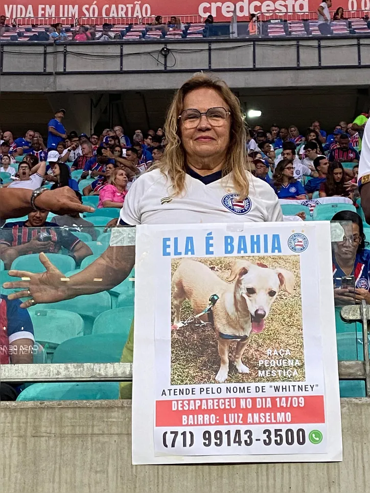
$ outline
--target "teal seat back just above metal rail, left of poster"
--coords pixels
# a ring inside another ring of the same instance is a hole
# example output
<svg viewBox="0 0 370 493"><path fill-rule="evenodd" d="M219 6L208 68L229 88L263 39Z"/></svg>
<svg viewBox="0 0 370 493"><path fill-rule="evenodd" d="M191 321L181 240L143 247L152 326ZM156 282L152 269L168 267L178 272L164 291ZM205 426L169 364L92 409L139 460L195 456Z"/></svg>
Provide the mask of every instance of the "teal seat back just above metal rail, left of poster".
<svg viewBox="0 0 370 493"><path fill-rule="evenodd" d="M119 363L125 334L92 334L68 339L54 353L53 363Z"/></svg>

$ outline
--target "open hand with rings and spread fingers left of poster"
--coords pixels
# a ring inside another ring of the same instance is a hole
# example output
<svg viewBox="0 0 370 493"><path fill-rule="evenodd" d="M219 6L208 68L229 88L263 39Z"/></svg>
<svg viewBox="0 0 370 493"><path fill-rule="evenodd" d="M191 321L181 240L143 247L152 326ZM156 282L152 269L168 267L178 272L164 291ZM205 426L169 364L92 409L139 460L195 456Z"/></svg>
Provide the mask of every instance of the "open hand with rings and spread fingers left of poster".
<svg viewBox="0 0 370 493"><path fill-rule="evenodd" d="M22 291L12 293L9 299L28 298L22 302L20 308L30 308L37 303L54 303L68 299L68 282L65 276L53 265L44 253L40 253L41 264L46 268L45 272L34 273L23 270L10 270L9 275L21 277L21 280L13 283L4 283L4 288L24 288Z"/></svg>

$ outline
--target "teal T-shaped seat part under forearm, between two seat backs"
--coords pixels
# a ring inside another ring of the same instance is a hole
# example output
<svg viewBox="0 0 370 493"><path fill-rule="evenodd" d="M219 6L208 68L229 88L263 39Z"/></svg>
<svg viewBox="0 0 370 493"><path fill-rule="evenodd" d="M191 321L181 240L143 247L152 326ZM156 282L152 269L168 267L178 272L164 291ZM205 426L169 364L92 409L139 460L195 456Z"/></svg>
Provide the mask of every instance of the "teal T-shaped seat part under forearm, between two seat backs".
<svg viewBox="0 0 370 493"><path fill-rule="evenodd" d="M94 280L91 279L91 283ZM107 291L96 294L83 294L72 299L64 299L55 303L39 303L39 310L65 310L80 315L84 322L84 335L91 334L92 326L98 315L112 308L110 295Z"/></svg>

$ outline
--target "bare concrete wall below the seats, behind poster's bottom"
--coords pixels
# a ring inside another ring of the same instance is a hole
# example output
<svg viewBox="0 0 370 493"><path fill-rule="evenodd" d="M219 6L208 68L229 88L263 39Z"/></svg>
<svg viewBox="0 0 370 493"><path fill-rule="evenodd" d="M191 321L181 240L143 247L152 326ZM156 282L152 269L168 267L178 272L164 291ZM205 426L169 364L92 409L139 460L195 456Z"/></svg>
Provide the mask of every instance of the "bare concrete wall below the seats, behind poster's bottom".
<svg viewBox="0 0 370 493"><path fill-rule="evenodd" d="M131 402L0 405L2 493L365 493L370 400L342 399L343 462L131 465Z"/></svg>

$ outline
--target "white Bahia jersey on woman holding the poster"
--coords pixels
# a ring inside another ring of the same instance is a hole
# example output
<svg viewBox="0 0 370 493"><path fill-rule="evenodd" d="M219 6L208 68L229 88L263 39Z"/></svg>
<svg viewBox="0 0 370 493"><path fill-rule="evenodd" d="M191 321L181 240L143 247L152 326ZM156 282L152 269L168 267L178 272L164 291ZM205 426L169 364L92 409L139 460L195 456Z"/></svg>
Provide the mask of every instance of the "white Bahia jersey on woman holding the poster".
<svg viewBox="0 0 370 493"><path fill-rule="evenodd" d="M272 187L246 173L249 195L244 200L238 200L230 174L207 185L187 174L186 191L172 197L163 173L144 173L130 187L120 220L131 225L283 221Z"/></svg>

